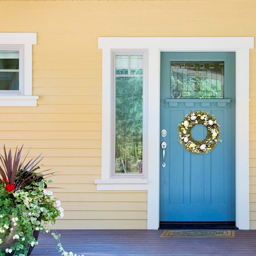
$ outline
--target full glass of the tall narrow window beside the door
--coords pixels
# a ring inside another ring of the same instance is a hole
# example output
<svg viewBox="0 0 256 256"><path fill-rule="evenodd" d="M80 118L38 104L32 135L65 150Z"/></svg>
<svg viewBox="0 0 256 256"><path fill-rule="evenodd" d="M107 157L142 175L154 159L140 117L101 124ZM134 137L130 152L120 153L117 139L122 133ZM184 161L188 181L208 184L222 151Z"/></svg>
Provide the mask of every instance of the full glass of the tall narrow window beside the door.
<svg viewBox="0 0 256 256"><path fill-rule="evenodd" d="M143 172L143 55L114 55L115 175Z"/></svg>

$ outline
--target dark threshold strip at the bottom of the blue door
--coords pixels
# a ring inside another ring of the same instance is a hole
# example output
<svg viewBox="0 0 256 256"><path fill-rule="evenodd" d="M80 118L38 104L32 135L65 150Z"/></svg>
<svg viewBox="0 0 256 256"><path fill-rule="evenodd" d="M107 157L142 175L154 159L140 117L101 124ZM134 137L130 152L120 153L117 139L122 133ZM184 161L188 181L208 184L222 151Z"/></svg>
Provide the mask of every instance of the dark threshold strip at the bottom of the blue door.
<svg viewBox="0 0 256 256"><path fill-rule="evenodd" d="M159 229L238 229L236 227L235 221L202 221L202 222L194 222L194 221L170 221L164 222L160 221Z"/></svg>

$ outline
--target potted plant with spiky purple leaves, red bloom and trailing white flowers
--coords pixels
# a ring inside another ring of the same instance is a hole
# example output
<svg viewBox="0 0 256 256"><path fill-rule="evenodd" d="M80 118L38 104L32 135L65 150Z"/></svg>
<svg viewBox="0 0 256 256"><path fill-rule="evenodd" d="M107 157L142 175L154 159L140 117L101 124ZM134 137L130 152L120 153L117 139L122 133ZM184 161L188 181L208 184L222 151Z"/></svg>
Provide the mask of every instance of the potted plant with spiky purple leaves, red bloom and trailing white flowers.
<svg viewBox="0 0 256 256"><path fill-rule="evenodd" d="M28 152L21 160L23 146L0 154L0 256L28 256L38 244L39 232L49 232L46 224L52 225L63 217L61 201L55 199L49 190L47 180L53 175L49 170L41 171L38 164L43 157L25 163ZM53 232L58 240L57 249L61 255L67 253L59 241L60 234Z"/></svg>

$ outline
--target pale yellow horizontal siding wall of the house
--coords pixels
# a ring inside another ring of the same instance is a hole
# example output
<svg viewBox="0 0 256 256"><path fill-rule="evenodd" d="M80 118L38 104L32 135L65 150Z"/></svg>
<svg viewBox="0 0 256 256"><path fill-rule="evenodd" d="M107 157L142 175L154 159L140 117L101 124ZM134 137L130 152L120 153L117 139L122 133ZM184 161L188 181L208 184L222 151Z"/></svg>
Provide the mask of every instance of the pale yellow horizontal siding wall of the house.
<svg viewBox="0 0 256 256"><path fill-rule="evenodd" d="M56 228L147 228L147 192L98 192L98 37L256 36L255 0L0 1L0 32L36 32L37 107L0 107L0 144L42 151L65 216ZM188 42L189 44L189 42ZM256 229L256 50L250 51L250 227Z"/></svg>

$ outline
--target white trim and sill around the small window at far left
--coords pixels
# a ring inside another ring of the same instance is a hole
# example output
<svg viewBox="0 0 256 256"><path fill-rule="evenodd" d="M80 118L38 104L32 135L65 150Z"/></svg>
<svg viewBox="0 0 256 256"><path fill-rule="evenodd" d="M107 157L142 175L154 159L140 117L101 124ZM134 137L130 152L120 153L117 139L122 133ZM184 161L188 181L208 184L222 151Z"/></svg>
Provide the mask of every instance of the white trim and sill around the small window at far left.
<svg viewBox="0 0 256 256"><path fill-rule="evenodd" d="M20 48L20 93L0 94L0 106L36 106L38 96L32 96L32 45L36 44L36 33L0 33L0 47Z"/></svg>

